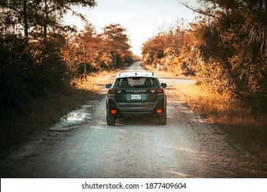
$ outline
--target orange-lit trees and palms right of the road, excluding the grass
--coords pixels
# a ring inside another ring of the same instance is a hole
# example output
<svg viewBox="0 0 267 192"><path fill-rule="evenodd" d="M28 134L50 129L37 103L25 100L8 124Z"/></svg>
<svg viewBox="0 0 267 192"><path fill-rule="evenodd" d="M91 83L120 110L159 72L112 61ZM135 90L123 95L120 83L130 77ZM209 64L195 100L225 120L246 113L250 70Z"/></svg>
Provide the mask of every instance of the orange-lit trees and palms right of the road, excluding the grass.
<svg viewBox="0 0 267 192"><path fill-rule="evenodd" d="M177 25L142 46L142 63L229 94L250 110L267 109L267 1L202 0L187 8L201 16L190 28ZM181 23L180 23L181 24Z"/></svg>

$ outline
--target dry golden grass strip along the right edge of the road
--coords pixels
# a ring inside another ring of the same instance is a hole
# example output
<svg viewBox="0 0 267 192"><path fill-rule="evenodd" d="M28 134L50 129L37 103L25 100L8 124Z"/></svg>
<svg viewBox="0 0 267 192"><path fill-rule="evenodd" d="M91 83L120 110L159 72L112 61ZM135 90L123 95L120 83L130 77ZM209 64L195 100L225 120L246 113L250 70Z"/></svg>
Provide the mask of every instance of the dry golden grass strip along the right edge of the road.
<svg viewBox="0 0 267 192"><path fill-rule="evenodd" d="M267 117L241 107L227 94L210 93L194 84L178 84L176 95L207 121L220 125L237 141L267 162Z"/></svg>

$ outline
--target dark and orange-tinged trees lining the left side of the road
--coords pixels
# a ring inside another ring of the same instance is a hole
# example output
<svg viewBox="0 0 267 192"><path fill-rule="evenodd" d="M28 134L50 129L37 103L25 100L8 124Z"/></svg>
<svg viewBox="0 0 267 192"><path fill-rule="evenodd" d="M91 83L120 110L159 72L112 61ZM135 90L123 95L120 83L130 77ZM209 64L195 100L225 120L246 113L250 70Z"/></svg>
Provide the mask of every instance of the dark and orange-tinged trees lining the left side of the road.
<svg viewBox="0 0 267 192"><path fill-rule="evenodd" d="M132 62L126 29L110 24L100 34L75 6L94 0L0 1L1 113L19 112L25 101L72 86L73 78ZM63 22L72 12L86 22L77 32Z"/></svg>

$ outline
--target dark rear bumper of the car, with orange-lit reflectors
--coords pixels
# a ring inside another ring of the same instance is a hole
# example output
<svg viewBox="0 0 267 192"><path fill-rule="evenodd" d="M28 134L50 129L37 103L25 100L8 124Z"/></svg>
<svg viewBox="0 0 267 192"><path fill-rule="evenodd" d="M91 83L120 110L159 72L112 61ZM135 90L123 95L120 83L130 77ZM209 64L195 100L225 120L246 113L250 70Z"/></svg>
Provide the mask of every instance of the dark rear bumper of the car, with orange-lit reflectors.
<svg viewBox="0 0 267 192"><path fill-rule="evenodd" d="M162 110L158 113L157 110ZM112 114L111 110L116 110ZM157 97L155 102L127 102L117 103L115 97L107 97L107 114L119 116L147 116L162 115L166 113L166 96Z"/></svg>

